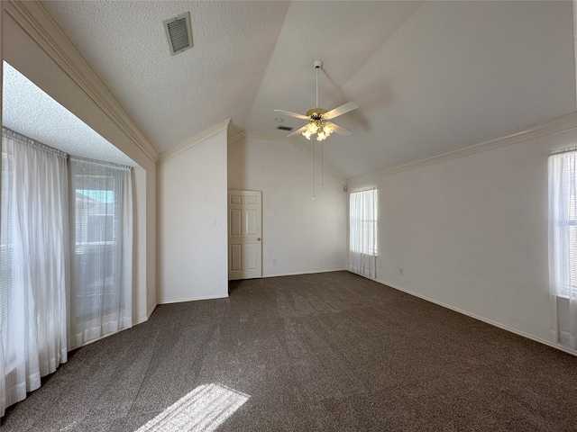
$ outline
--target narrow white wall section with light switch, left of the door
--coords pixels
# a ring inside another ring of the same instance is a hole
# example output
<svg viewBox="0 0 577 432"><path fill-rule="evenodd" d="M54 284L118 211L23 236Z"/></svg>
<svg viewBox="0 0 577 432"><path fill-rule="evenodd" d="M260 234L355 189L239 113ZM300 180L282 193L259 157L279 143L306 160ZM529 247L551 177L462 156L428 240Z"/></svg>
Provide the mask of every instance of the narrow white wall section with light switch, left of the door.
<svg viewBox="0 0 577 432"><path fill-rule="evenodd" d="M161 162L157 187L159 302L228 296L226 130Z"/></svg>

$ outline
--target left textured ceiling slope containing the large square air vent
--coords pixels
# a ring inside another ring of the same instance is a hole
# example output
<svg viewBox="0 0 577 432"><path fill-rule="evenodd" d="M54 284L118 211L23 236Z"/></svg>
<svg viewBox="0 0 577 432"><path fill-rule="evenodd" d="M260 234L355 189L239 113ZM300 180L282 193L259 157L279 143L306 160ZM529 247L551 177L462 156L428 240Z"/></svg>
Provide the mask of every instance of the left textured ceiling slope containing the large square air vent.
<svg viewBox="0 0 577 432"><path fill-rule="evenodd" d="M243 130L289 2L46 2L160 153L231 118ZM162 21L190 12L194 47L171 56Z"/></svg>

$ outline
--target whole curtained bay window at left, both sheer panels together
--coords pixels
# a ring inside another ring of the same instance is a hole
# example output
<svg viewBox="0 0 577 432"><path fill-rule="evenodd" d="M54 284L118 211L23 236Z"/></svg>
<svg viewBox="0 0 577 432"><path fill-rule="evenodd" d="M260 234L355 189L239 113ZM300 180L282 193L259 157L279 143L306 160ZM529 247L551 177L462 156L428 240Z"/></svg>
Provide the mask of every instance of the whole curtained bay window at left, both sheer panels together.
<svg viewBox="0 0 577 432"><path fill-rule="evenodd" d="M0 416L70 348L132 327L131 181L3 128Z"/></svg>

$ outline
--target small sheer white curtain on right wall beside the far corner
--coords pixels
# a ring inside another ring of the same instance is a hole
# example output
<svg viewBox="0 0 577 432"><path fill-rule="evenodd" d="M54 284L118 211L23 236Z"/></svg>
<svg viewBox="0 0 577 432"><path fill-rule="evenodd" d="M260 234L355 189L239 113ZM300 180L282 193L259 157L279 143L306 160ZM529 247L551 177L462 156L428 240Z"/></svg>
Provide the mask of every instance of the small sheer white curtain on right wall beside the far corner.
<svg viewBox="0 0 577 432"><path fill-rule="evenodd" d="M377 276L377 189L353 192L349 202L349 270Z"/></svg>

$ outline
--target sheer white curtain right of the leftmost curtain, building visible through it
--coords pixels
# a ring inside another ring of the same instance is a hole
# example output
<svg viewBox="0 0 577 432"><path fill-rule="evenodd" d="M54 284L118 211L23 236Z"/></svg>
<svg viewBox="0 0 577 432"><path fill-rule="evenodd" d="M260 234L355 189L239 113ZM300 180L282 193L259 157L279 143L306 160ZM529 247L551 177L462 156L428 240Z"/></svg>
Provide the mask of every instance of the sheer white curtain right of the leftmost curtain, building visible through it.
<svg viewBox="0 0 577 432"><path fill-rule="evenodd" d="M70 157L70 347L132 327L131 169Z"/></svg>

